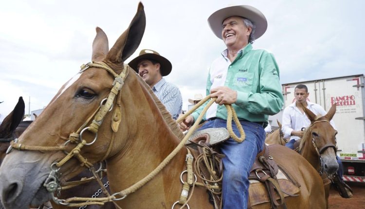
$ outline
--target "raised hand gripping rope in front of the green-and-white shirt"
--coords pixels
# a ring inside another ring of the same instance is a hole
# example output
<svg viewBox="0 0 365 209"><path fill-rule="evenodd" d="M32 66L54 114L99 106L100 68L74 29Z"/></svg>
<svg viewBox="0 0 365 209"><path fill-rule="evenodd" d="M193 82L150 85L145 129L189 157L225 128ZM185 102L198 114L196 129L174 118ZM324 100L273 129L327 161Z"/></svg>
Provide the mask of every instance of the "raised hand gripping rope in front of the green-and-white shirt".
<svg viewBox="0 0 365 209"><path fill-rule="evenodd" d="M215 87L210 89L211 98L217 97L216 103L234 104L237 101L237 91L229 87Z"/></svg>

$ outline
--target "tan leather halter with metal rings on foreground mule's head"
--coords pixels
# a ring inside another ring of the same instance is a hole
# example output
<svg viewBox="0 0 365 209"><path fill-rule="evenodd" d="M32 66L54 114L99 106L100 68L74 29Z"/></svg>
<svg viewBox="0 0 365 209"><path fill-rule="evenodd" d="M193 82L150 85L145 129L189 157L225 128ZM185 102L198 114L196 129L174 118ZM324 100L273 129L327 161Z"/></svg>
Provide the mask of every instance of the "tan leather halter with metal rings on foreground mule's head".
<svg viewBox="0 0 365 209"><path fill-rule="evenodd" d="M86 122L84 122L79 127L79 129L76 132L73 132L69 135L69 139L62 146L59 146L59 147L29 146L29 145L20 144L17 141L13 141L13 142L11 142L9 149L7 151L7 154L11 152L12 148L18 149L20 151L21 150L63 151L66 154L66 157L64 157L59 162L52 163L51 172L43 184L43 186L47 189L47 191L51 193L53 200L57 204L61 204L61 205L69 205L70 203L67 203L67 202L65 202L65 200L58 199L57 197L54 196L54 192L57 191L57 188L59 186L59 180L58 180L57 173L58 173L60 167L63 164L65 164L72 157L76 157L81 162L81 166L86 166L87 168L91 169L92 173L95 175L93 165L90 162L88 162L88 160L80 154L81 148L84 145L91 145L96 141L97 132L98 132L102 122L104 121L106 114L113 109L115 97L120 93L120 90L124 85L124 81L130 71L130 67L128 65L124 64L124 68L123 68L122 72L118 75L106 63L91 61L91 62L87 63L86 65L84 64L81 66L80 73L91 67L107 70L111 75L113 75L114 76L114 82L112 84L113 87L110 89L110 93L109 93L108 97L101 101L100 106L98 106L98 108L93 112L93 114L86 120ZM119 96L117 97L116 104L120 105L120 100L121 100L121 96L119 94ZM120 116L121 116L120 108L116 108L114 111L114 114L112 116L113 117L112 131L114 133L118 130L118 126L121 121ZM91 121L92 118L93 118L93 120ZM91 121L91 123L90 123L90 121ZM89 124L89 123L90 123L90 125L87 126L87 124ZM85 131L90 131L91 133L95 134L95 138L90 143L87 143L85 139L82 139L82 135ZM66 145L69 142L77 143L77 145L68 153L68 152L66 152ZM111 142L110 142L110 144L111 144ZM108 155L108 152L106 153L106 156L107 155ZM114 196L114 195L111 195L111 196ZM113 200L117 200L117 199L114 198Z"/></svg>

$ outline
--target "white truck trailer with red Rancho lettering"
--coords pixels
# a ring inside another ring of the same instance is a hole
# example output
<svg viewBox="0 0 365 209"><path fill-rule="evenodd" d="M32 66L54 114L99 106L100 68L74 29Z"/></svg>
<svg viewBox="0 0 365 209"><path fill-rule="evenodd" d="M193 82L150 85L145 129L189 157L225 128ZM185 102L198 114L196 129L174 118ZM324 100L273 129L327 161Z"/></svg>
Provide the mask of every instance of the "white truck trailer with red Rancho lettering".
<svg viewBox="0 0 365 209"><path fill-rule="evenodd" d="M283 84L283 108L294 102L294 87L298 84L306 85L308 99L326 111L337 104L333 120L338 131L337 155L343 162L344 180L365 182L364 74ZM281 115L282 112L269 117L269 121L275 126L276 118L280 122Z"/></svg>

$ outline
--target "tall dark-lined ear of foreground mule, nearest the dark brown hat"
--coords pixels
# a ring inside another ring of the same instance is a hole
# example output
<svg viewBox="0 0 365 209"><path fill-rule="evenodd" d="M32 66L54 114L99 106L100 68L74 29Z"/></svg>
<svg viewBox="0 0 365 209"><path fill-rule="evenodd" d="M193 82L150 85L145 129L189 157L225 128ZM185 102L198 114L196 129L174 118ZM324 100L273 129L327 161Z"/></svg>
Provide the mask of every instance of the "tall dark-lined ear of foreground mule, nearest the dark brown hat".
<svg viewBox="0 0 365 209"><path fill-rule="evenodd" d="M112 63L123 63L141 43L146 28L146 15L143 4L138 4L137 13L129 24L128 29L119 36L107 55Z"/></svg>

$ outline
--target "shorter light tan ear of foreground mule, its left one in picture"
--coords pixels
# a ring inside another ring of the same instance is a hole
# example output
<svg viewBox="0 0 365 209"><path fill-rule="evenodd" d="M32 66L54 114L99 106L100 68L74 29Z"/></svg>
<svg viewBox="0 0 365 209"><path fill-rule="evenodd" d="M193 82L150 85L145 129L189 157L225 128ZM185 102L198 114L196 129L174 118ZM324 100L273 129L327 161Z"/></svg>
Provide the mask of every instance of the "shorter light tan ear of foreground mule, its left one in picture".
<svg viewBox="0 0 365 209"><path fill-rule="evenodd" d="M101 28L96 27L96 36L92 42L92 61L103 60L109 52L108 37Z"/></svg>

